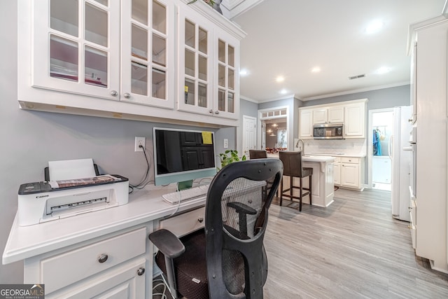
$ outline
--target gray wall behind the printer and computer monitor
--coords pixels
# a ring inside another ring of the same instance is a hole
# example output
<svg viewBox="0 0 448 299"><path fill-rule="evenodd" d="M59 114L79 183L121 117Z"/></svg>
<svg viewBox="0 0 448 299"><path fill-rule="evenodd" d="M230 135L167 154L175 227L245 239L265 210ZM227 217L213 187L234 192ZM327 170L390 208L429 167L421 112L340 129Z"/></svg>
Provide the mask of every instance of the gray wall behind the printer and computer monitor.
<svg viewBox="0 0 448 299"><path fill-rule="evenodd" d="M3 253L17 211L21 183L43 180L43 168L51 160L93 158L106 174L121 174L139 183L146 172L146 160L134 152L134 137L146 137L146 151L152 165L152 129L176 127L133 120L72 116L24 111L17 95L17 2L0 1L0 251ZM179 127L179 126L178 126ZM195 127L186 127L195 128ZM203 129L203 128L202 128ZM216 131L216 152L223 151L223 139L235 147L235 128ZM151 167L153 178L153 167ZM0 283L23 282L22 262L0 265Z"/></svg>

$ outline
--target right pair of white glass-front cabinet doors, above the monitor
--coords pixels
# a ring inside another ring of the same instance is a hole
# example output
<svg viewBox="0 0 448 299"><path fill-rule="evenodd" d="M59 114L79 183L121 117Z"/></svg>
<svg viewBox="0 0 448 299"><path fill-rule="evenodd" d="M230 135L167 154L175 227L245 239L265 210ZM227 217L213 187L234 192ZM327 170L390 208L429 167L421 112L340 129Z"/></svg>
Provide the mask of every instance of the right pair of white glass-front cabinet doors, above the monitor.
<svg viewBox="0 0 448 299"><path fill-rule="evenodd" d="M181 111L238 118L239 40L193 10L179 11Z"/></svg>

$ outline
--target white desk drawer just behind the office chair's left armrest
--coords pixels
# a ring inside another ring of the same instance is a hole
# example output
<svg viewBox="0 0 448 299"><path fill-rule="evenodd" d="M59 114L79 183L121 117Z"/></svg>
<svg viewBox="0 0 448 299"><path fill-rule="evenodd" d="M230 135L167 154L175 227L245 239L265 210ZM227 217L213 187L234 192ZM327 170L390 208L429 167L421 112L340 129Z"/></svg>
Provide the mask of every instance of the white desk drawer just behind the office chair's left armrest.
<svg viewBox="0 0 448 299"><path fill-rule="evenodd" d="M174 216L160 221L159 228L169 230L177 237L182 237L190 232L204 227L205 207L188 211L179 216Z"/></svg>

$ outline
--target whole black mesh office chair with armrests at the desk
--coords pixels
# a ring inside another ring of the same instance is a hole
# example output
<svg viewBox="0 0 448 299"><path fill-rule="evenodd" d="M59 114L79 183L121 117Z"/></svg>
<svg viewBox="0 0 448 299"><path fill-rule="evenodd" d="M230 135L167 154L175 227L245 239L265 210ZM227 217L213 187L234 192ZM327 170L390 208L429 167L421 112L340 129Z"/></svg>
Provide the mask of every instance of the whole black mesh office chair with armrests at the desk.
<svg viewBox="0 0 448 299"><path fill-rule="evenodd" d="M282 172L278 159L227 165L210 184L203 230L181 237L181 242L164 229L149 235L159 249L155 261L175 298L263 298L263 239ZM263 198L262 186L273 177Z"/></svg>

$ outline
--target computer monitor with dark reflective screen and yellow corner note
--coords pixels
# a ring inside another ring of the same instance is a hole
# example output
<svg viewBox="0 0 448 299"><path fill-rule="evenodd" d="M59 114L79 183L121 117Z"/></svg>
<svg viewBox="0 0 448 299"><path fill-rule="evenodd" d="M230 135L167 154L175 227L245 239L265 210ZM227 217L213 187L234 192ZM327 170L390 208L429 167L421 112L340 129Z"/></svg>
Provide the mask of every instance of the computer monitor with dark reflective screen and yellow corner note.
<svg viewBox="0 0 448 299"><path fill-rule="evenodd" d="M155 127L155 185L216 174L214 132Z"/></svg>

